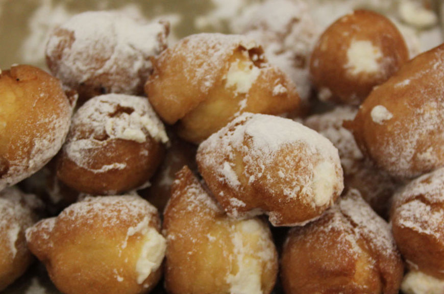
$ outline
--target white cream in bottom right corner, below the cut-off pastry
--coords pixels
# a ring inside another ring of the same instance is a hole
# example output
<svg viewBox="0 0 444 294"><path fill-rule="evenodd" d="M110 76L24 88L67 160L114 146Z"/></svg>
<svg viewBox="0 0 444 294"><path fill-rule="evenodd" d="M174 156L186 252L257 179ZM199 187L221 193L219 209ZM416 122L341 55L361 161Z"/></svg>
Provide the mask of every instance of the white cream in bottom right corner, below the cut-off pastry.
<svg viewBox="0 0 444 294"><path fill-rule="evenodd" d="M442 294L444 293L444 280L412 271L405 275L401 290L405 294Z"/></svg>

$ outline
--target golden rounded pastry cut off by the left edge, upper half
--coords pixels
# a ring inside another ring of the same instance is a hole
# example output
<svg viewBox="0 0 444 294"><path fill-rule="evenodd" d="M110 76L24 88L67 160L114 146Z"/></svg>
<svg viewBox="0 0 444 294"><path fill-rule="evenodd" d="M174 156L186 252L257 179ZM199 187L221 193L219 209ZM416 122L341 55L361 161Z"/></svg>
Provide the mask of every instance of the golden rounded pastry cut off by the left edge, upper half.
<svg viewBox="0 0 444 294"><path fill-rule="evenodd" d="M59 80L30 65L0 71L0 190L29 177L61 148L71 106Z"/></svg>

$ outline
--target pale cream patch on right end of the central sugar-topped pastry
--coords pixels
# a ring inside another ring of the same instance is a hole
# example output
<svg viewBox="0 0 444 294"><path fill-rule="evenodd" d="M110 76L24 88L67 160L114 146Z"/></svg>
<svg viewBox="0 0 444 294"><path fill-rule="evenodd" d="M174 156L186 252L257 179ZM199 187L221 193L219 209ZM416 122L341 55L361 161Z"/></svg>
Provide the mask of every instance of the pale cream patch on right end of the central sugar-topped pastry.
<svg viewBox="0 0 444 294"><path fill-rule="evenodd" d="M316 165L313 171L313 194L314 204L316 206L323 206L330 202L333 195L334 184L336 180L335 166L323 161Z"/></svg>

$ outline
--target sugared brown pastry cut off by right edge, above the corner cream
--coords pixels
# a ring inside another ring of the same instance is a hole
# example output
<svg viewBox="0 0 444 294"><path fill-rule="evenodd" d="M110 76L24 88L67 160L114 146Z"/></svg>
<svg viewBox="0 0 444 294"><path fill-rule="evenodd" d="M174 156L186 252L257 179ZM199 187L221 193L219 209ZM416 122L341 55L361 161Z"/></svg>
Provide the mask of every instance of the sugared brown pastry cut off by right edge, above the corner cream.
<svg viewBox="0 0 444 294"><path fill-rule="evenodd" d="M393 197L393 236L410 269L444 279L444 168L407 184Z"/></svg>

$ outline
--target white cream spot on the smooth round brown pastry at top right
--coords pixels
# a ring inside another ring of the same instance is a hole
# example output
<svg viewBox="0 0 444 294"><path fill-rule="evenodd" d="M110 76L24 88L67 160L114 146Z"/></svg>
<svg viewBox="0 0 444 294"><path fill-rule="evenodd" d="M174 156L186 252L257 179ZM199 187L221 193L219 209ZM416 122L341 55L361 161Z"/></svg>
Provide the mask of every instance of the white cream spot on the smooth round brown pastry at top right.
<svg viewBox="0 0 444 294"><path fill-rule="evenodd" d="M347 51L348 63L345 68L356 76L361 73L372 74L379 71L379 59L382 53L371 41L353 40Z"/></svg>

